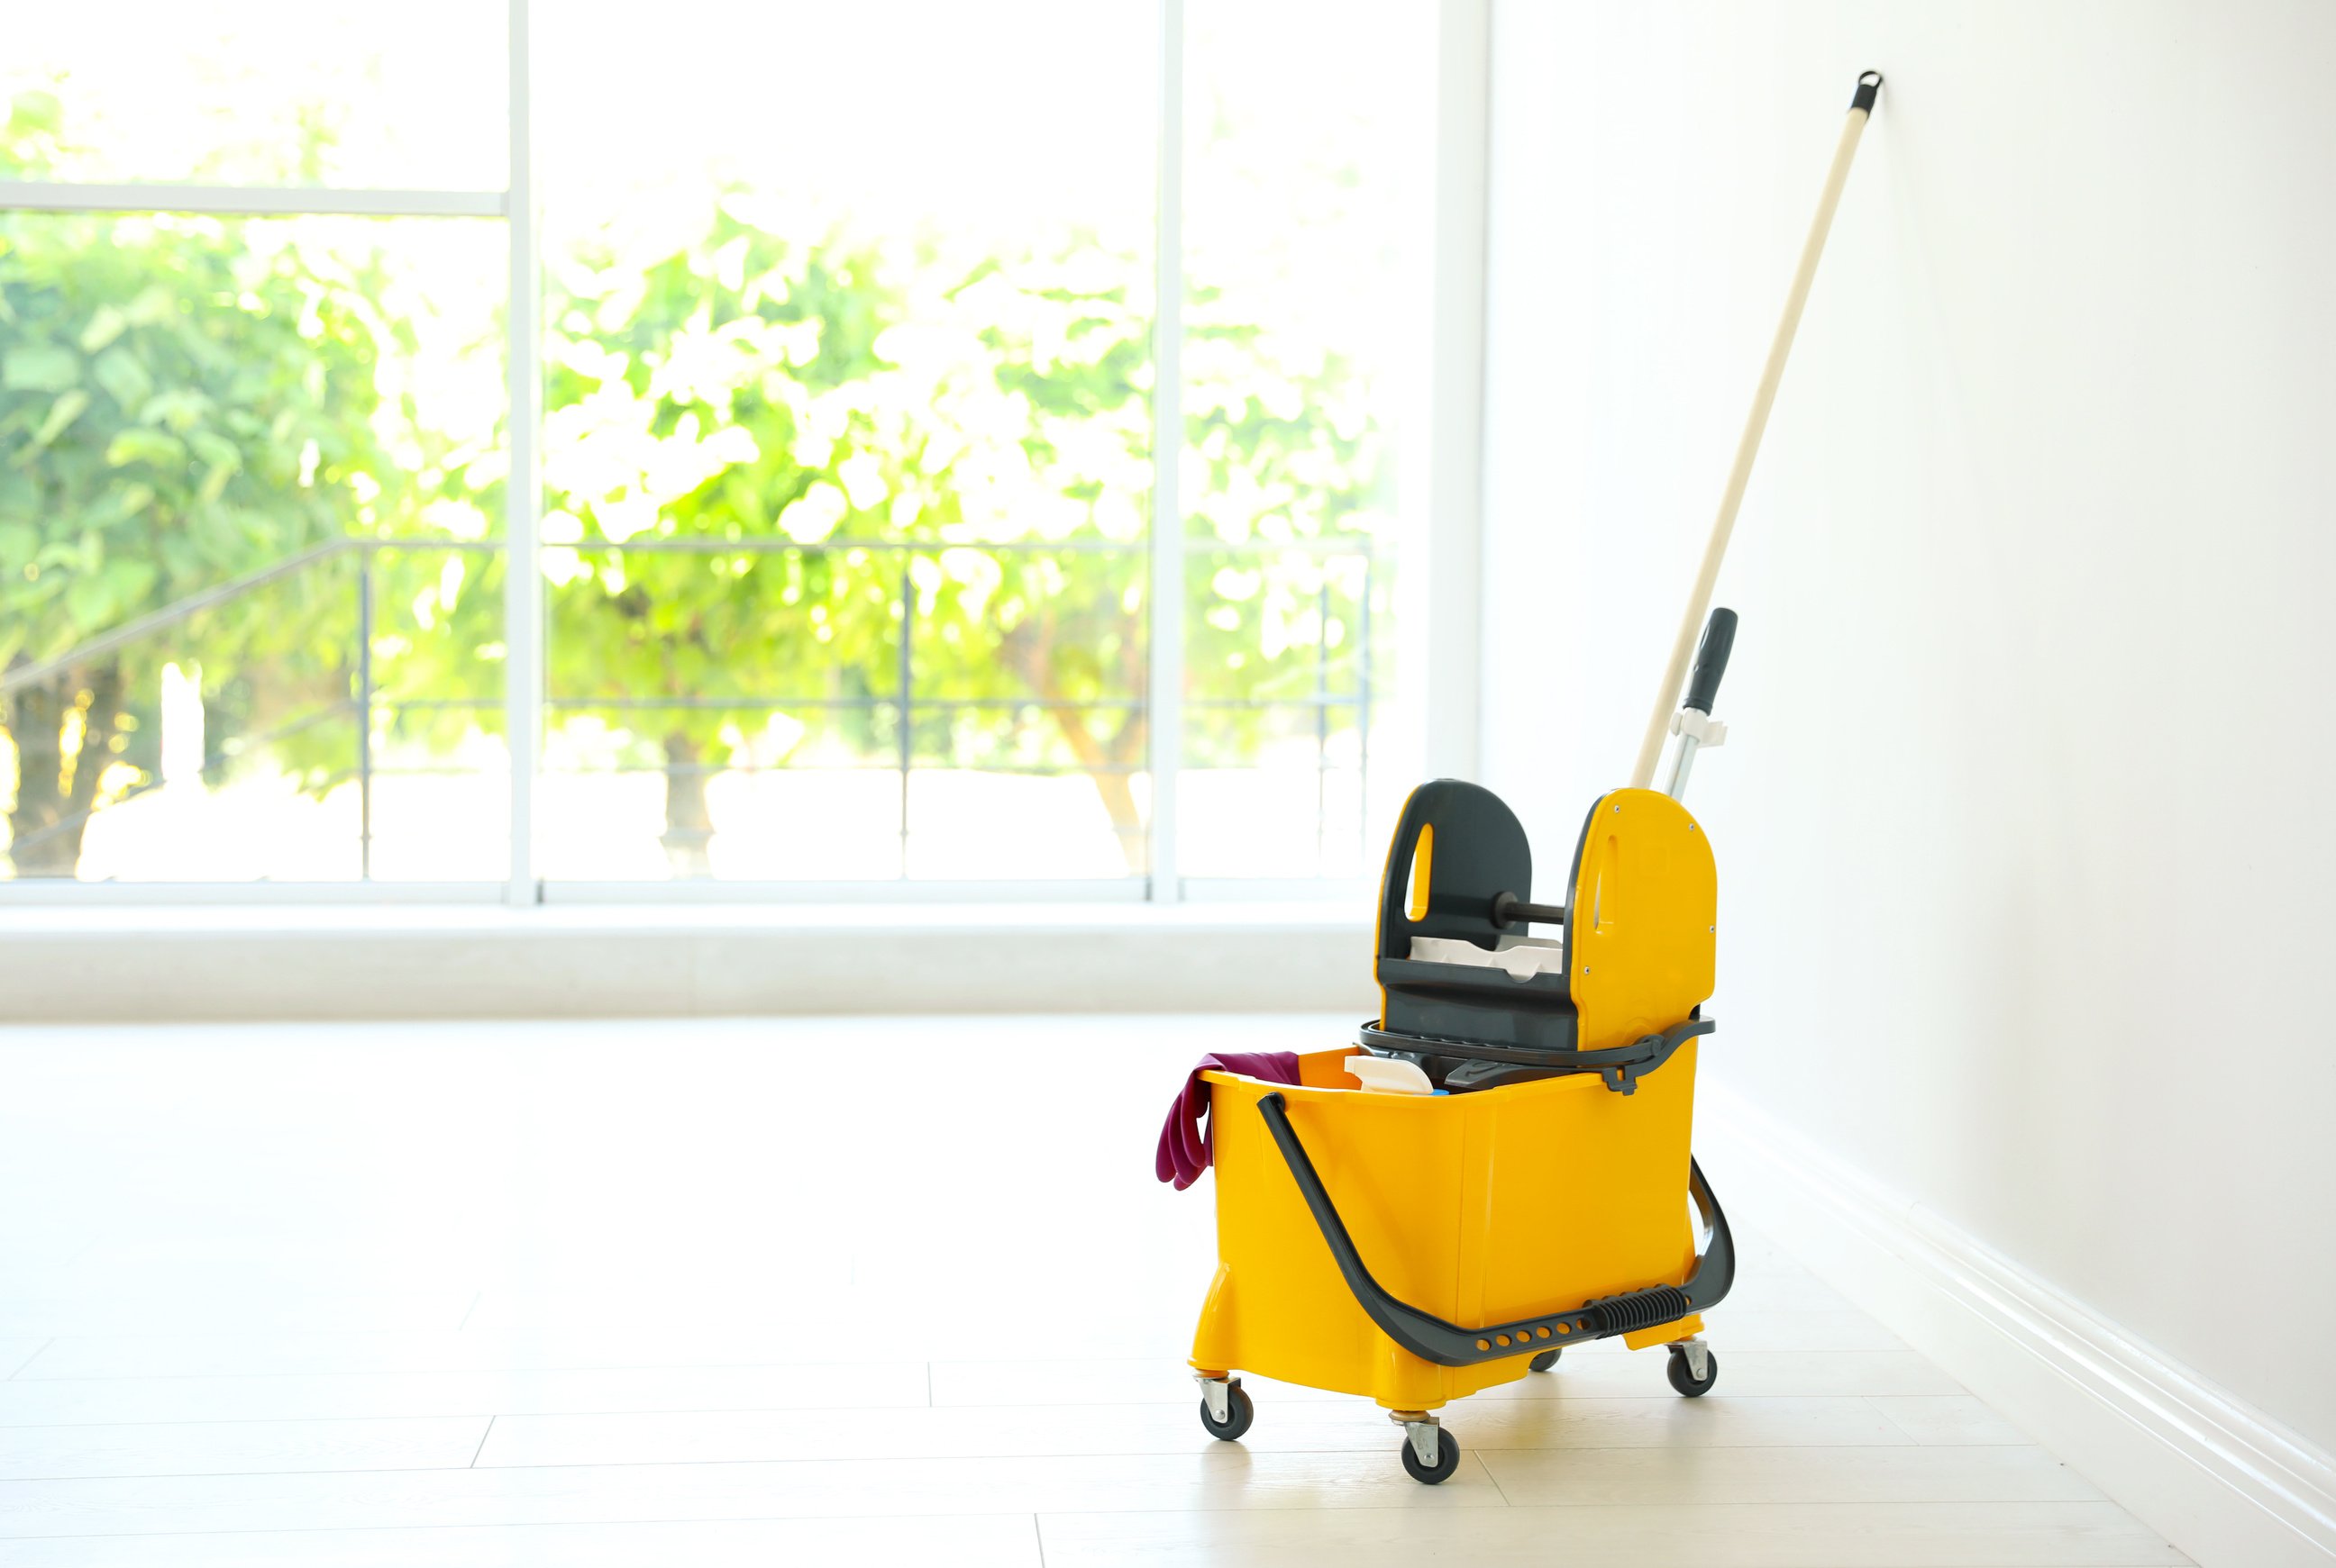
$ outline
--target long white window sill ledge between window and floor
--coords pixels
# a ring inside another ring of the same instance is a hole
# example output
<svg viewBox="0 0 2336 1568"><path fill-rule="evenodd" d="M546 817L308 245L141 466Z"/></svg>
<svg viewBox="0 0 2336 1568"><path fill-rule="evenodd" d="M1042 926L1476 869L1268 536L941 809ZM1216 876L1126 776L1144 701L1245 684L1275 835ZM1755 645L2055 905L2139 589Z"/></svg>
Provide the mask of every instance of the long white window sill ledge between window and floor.
<svg viewBox="0 0 2336 1568"><path fill-rule="evenodd" d="M19 905L7 1022L1282 1013L1362 1017L1339 903Z"/></svg>

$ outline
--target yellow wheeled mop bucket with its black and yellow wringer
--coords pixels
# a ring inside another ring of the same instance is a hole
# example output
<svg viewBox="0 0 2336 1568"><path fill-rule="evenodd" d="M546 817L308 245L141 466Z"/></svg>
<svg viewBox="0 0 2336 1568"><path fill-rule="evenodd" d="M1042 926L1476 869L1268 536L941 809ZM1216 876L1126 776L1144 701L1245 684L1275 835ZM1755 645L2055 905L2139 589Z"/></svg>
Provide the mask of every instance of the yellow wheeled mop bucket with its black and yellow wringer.
<svg viewBox="0 0 2336 1568"><path fill-rule="evenodd" d="M1413 791L1362 1050L1444 1092L1364 1092L1353 1048L1301 1057L1296 1085L1205 1073L1217 1274L1191 1365L1210 1433L1247 1430L1233 1374L1257 1372L1376 1400L1406 1428L1404 1468L1441 1482L1460 1447L1432 1412L1570 1344L1670 1344L1682 1393L1717 1379L1696 1335L1733 1251L1689 1157L1710 847L1675 800L1624 789L1591 810L1584 919L1558 940L1523 936L1556 912L1525 898L1530 877L1497 796Z"/></svg>

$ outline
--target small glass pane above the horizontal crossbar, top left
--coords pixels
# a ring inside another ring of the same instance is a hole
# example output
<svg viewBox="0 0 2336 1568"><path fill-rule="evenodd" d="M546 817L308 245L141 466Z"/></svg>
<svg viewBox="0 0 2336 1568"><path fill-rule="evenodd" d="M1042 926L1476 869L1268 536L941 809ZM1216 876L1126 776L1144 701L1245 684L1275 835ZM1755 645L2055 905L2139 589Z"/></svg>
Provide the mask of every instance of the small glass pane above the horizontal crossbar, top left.
<svg viewBox="0 0 2336 1568"><path fill-rule="evenodd" d="M14 5L0 177L502 189L507 61L481 0Z"/></svg>

